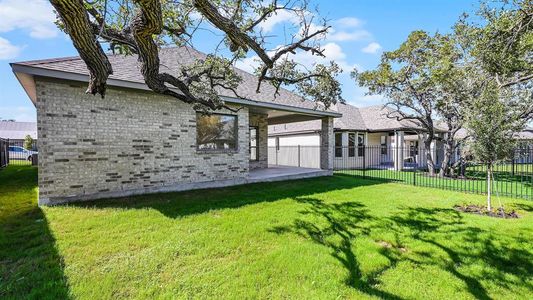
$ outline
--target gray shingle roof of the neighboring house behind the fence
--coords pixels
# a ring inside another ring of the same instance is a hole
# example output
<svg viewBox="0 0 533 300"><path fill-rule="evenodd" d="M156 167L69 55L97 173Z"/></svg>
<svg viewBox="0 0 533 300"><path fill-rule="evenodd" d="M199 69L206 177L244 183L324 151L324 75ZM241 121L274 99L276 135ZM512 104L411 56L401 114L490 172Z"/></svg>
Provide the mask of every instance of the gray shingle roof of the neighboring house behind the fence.
<svg viewBox="0 0 533 300"><path fill-rule="evenodd" d="M383 105L368 107L355 107L350 104L337 104L336 110L342 117L334 120L334 128L338 130L354 131L392 131L392 130L423 130L413 121L398 121L393 118L394 111ZM307 121L282 125L272 125L269 127L271 135L282 135L289 133L316 132L321 128L320 121Z"/></svg>

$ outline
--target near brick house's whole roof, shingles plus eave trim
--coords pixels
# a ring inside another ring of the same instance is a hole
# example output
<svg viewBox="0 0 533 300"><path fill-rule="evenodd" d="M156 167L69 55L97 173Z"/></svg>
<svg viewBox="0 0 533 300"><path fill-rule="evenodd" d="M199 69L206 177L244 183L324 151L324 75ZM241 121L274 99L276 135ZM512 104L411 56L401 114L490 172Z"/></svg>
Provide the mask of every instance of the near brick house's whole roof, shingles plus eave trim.
<svg viewBox="0 0 533 300"><path fill-rule="evenodd" d="M190 47L162 48L159 53L160 72L177 75L180 72L181 67L190 65L198 60L205 59L206 57L207 55L205 53ZM148 89L143 76L139 71L137 56L109 54L108 58L113 67L113 74L109 76L108 85ZM15 73L30 73L37 76L88 81L89 71L87 70L85 62L78 56L17 62L12 63L11 65ZM275 88L268 82L263 82L261 84L260 93L256 93L257 77L238 68L234 69L237 74L242 77L242 82L236 89L237 94L241 98L238 99L235 94L229 90L223 88L218 89L221 96L230 98L226 99L228 102L241 103L237 100L245 99L262 103L318 110L338 117L335 112L326 112L317 107L315 102L305 100L299 95L286 89L280 89L279 94L275 96ZM20 81L22 83L22 80Z"/></svg>

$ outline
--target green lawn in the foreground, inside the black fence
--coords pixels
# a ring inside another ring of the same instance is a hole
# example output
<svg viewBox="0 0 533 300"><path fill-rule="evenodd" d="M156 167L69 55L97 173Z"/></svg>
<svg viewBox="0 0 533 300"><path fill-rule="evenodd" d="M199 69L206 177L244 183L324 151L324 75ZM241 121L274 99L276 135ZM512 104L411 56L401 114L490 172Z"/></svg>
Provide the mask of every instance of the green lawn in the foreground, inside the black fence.
<svg viewBox="0 0 533 300"><path fill-rule="evenodd" d="M36 173L0 171L0 298L533 294L531 201L334 176L41 209Z"/></svg>

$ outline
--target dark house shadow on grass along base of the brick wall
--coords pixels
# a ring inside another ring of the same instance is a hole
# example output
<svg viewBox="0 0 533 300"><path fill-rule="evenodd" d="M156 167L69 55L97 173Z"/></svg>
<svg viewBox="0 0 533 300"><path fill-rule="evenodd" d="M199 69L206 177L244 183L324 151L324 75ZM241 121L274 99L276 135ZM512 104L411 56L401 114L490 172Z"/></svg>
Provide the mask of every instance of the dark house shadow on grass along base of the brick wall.
<svg viewBox="0 0 533 300"><path fill-rule="evenodd" d="M239 208L262 202L275 202L288 198L331 191L353 189L360 186L377 185L388 180L354 180L354 178L332 176L302 180L254 183L240 186L170 192L102 199L68 204L92 209L156 209L169 218L201 214L212 210Z"/></svg>

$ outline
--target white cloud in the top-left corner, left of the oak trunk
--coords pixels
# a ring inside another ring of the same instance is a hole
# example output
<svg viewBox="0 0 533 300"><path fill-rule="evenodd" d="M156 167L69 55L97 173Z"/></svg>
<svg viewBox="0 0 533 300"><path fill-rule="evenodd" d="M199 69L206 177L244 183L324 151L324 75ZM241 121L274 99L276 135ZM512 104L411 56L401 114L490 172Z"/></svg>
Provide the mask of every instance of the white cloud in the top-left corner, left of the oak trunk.
<svg viewBox="0 0 533 300"><path fill-rule="evenodd" d="M24 29L38 39L58 34L52 6L45 0L0 0L0 20L0 32Z"/></svg>

